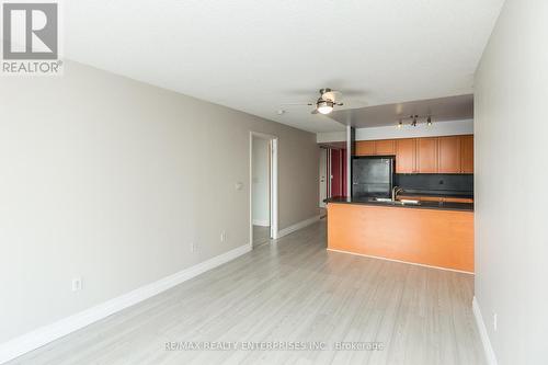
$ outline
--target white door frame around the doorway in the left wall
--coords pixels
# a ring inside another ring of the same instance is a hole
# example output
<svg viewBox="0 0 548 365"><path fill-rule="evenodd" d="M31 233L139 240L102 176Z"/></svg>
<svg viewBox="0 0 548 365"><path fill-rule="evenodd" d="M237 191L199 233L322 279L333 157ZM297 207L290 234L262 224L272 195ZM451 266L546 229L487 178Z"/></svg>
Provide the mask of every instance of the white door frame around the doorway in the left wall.
<svg viewBox="0 0 548 365"><path fill-rule="evenodd" d="M271 237L276 239L278 237L278 186L277 186L277 145L278 137L267 135L264 133L252 132L249 133L249 239L250 244L253 247L253 137L267 139L270 144L271 166L271 204L270 204L270 218L271 218Z"/></svg>

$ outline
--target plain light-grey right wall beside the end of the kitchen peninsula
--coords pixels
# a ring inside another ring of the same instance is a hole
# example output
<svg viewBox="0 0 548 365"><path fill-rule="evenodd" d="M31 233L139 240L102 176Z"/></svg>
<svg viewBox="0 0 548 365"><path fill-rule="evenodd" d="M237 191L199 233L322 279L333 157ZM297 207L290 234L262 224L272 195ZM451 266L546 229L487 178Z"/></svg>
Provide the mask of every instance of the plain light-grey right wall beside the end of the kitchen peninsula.
<svg viewBox="0 0 548 365"><path fill-rule="evenodd" d="M547 14L506 0L475 80L476 298L499 364L548 364Z"/></svg>

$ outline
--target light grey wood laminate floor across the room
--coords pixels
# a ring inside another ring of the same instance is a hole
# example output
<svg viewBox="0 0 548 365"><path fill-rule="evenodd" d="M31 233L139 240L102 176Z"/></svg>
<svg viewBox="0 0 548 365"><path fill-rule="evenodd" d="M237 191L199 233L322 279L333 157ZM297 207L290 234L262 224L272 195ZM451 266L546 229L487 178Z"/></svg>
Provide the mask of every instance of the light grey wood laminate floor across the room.
<svg viewBox="0 0 548 365"><path fill-rule="evenodd" d="M321 221L12 363L482 364L472 292L471 275L328 252ZM165 351L183 341L384 350Z"/></svg>

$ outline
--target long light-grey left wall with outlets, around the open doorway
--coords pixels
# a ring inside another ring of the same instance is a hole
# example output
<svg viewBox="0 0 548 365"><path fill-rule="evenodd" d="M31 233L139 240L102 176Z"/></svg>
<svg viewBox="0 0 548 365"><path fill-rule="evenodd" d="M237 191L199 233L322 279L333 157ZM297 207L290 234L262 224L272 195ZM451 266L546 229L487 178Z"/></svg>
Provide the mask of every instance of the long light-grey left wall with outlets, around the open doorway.
<svg viewBox="0 0 548 365"><path fill-rule="evenodd" d="M249 244L250 130L279 138L279 228L319 214L313 134L65 66L0 81L0 343Z"/></svg>

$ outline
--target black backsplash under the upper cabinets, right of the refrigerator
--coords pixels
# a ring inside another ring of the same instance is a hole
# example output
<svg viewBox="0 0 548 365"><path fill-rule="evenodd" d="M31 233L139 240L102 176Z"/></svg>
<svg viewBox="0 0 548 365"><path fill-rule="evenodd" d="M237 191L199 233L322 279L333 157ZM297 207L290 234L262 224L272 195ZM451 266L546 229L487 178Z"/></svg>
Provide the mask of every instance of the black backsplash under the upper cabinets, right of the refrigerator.
<svg viewBox="0 0 548 365"><path fill-rule="evenodd" d="M473 196L473 174L396 174L395 185L413 194Z"/></svg>

